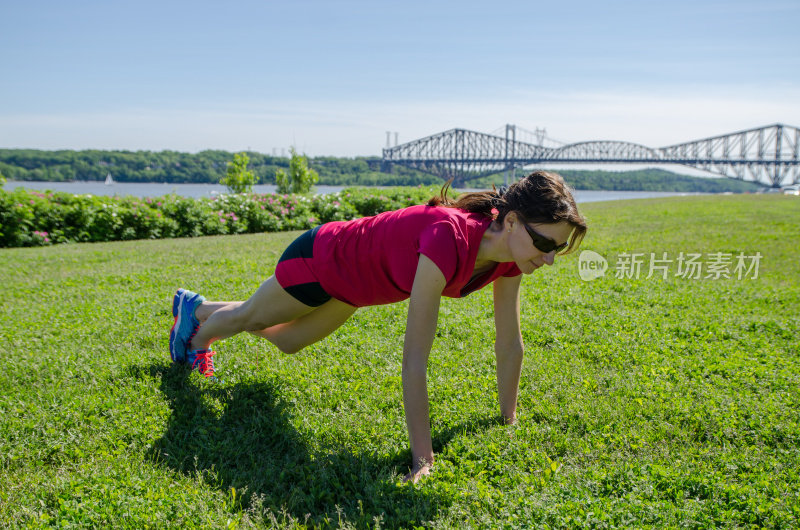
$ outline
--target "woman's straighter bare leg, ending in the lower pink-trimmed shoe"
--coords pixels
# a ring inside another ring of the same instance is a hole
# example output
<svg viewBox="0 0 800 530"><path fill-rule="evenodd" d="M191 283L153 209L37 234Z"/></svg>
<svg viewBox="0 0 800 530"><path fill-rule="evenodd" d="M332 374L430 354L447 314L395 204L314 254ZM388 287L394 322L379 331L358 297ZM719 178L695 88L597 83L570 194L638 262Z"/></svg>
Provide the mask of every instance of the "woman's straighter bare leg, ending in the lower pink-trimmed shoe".
<svg viewBox="0 0 800 530"><path fill-rule="evenodd" d="M201 308L198 311L205 316ZM192 338L189 349L206 349L214 341L227 339L242 331L259 331L290 322L314 309L284 291L275 277L271 276L246 302L226 305L207 316Z"/></svg>

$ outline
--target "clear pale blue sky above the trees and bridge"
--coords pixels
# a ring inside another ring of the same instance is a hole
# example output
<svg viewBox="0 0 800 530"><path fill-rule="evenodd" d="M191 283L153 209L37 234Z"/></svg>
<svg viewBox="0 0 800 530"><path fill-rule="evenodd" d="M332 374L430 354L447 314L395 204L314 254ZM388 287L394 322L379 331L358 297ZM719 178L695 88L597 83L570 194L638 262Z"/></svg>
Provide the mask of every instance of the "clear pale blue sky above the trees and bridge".
<svg viewBox="0 0 800 530"><path fill-rule="evenodd" d="M800 2L3 2L0 71L0 147L379 155L505 123L657 147L800 126Z"/></svg>

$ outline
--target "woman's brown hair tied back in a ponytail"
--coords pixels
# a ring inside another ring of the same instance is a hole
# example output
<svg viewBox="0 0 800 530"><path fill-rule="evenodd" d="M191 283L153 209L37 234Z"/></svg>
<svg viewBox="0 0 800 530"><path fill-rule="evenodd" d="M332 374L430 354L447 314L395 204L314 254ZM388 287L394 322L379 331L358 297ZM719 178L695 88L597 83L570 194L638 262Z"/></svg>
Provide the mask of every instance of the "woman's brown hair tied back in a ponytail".
<svg viewBox="0 0 800 530"><path fill-rule="evenodd" d="M516 213L524 223L558 223L566 221L573 227L567 248L560 254L568 254L580 246L586 235L586 219L578 212L572 197L572 189L567 186L558 173L534 171L499 190L492 185L492 191L463 193L453 200L447 191L453 179L448 180L439 194L432 197L428 206L461 208L468 212L482 213L493 217L497 209L497 222L502 223L509 212Z"/></svg>

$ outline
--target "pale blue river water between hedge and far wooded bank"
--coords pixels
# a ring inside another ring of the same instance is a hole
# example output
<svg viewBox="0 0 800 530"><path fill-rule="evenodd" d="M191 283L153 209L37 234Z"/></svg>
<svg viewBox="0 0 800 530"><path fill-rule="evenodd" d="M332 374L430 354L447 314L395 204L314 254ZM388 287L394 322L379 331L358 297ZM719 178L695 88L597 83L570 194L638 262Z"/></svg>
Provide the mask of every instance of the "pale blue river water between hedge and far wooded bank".
<svg viewBox="0 0 800 530"><path fill-rule="evenodd" d="M29 190L64 191L74 194L91 195L133 195L135 197L158 197L174 193L183 197L213 197L225 193L227 188L219 184L154 184L146 182L115 182L106 185L103 182L21 182L10 180L6 183L6 190L15 188ZM336 193L345 186L317 186L318 194ZM256 193L275 193L276 187L269 184L253 186ZM474 190L469 190L474 191ZM681 193L668 191L590 191L576 190L575 200L578 202L614 201L620 199L648 199L654 197L670 197L675 195L698 195L696 193Z"/></svg>

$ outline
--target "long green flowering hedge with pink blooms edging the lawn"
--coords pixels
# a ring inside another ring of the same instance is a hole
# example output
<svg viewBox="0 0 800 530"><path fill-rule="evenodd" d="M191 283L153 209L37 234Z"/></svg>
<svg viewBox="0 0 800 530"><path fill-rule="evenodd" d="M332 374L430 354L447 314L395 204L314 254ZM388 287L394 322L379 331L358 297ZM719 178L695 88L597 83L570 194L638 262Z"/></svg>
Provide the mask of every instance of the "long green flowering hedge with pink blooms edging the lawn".
<svg viewBox="0 0 800 530"><path fill-rule="evenodd" d="M0 247L305 230L422 204L427 188L348 188L330 195L237 194L140 199L0 189Z"/></svg>

